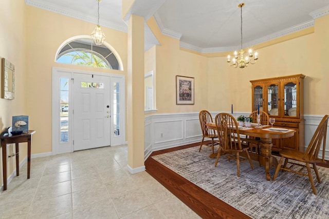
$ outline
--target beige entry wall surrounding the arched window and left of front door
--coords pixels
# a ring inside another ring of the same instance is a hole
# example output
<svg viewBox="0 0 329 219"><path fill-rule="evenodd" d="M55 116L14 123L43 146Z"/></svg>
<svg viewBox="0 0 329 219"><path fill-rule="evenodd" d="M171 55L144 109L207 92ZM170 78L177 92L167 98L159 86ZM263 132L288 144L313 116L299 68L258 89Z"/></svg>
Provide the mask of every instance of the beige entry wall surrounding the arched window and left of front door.
<svg viewBox="0 0 329 219"><path fill-rule="evenodd" d="M42 17L42 19L40 19ZM127 34L102 27L105 41L119 53L124 71L93 69L54 62L59 46L68 38L89 35L95 24L80 21L39 8L27 6L27 112L33 136L33 153L51 152L51 77L52 67L94 70L125 74L127 69ZM36 34L38 33L38 34Z"/></svg>

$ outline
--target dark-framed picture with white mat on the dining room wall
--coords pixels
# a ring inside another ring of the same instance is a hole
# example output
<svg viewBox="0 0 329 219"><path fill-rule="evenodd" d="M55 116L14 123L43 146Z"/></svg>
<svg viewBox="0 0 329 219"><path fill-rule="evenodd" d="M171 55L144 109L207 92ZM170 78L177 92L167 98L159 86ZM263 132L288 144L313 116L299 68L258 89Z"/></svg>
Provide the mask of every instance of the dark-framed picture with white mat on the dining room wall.
<svg viewBox="0 0 329 219"><path fill-rule="evenodd" d="M176 75L176 105L194 104L194 77Z"/></svg>

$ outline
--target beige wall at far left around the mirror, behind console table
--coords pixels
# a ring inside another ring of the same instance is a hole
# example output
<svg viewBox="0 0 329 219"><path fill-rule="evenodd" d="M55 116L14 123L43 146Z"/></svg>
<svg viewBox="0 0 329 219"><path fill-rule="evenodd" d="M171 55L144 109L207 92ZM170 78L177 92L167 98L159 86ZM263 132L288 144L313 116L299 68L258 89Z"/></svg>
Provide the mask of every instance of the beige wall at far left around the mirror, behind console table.
<svg viewBox="0 0 329 219"><path fill-rule="evenodd" d="M26 40L25 37L25 3L24 1L2 1L0 7L0 57L7 58L15 66L15 98L12 100L0 98L0 131L12 125L13 115L28 115L26 103ZM1 64L0 64L1 65ZM1 74L0 74L1 75ZM1 79L0 79L1 81ZM1 84L1 83L0 83ZM7 151L15 151L14 145L9 145ZM27 144L21 144L20 160L27 154ZM7 158L8 173L15 168L15 157ZM2 177L1 152L1 184ZM9 175L8 174L8 175Z"/></svg>

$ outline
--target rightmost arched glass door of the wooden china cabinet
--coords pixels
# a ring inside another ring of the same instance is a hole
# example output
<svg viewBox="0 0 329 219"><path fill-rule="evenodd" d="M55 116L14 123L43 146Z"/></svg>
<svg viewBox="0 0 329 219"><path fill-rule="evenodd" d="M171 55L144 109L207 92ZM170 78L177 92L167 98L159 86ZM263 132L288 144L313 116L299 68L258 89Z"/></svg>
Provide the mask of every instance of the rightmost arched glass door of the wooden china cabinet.
<svg viewBox="0 0 329 219"><path fill-rule="evenodd" d="M297 111L297 83L284 84L284 115L296 116Z"/></svg>

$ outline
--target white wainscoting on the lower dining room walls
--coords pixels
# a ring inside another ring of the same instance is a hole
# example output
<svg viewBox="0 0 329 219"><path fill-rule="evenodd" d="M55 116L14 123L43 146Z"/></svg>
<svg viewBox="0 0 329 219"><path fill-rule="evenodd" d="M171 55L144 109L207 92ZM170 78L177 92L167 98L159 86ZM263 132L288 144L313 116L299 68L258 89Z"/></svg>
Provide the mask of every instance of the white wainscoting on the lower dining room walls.
<svg viewBox="0 0 329 219"><path fill-rule="evenodd" d="M215 118L218 112L211 112ZM233 115L248 115L246 112L235 112ZM312 136L321 122L323 115L304 115L305 145L307 148ZM202 133L199 113L170 113L145 116L145 149L146 158L157 150L200 142ZM326 136L325 159L329 160L329 130ZM320 152L322 154L322 151Z"/></svg>

